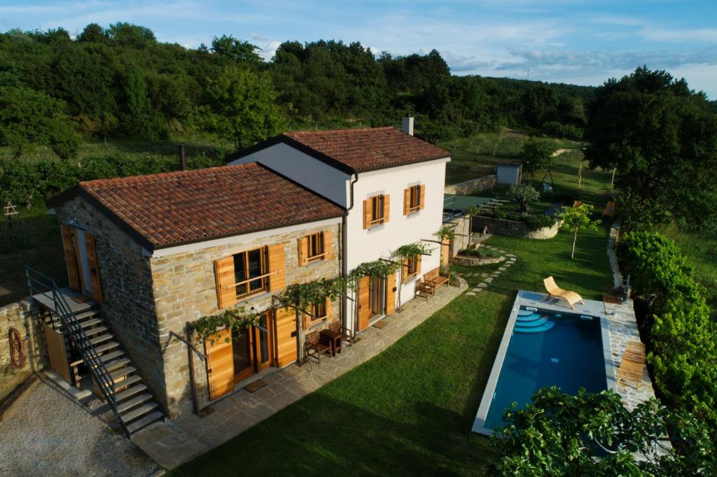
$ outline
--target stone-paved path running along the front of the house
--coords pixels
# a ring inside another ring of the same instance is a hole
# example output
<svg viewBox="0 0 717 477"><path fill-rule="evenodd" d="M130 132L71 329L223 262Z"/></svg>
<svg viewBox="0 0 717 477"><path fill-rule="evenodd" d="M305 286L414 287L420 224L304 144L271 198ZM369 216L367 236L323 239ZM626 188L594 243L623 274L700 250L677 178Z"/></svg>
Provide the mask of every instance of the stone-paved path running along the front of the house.
<svg viewBox="0 0 717 477"><path fill-rule="evenodd" d="M382 320L385 327L369 327L359 334L353 346L343 344L340 355L323 357L320 365L312 361L285 367L262 377L267 385L257 392L239 390L211 405L203 417L192 414L176 421L156 423L133 435L132 440L164 468L176 468L370 360L465 289L467 284L461 278L457 286L441 286L435 297L416 298L404 304L402 312Z"/></svg>

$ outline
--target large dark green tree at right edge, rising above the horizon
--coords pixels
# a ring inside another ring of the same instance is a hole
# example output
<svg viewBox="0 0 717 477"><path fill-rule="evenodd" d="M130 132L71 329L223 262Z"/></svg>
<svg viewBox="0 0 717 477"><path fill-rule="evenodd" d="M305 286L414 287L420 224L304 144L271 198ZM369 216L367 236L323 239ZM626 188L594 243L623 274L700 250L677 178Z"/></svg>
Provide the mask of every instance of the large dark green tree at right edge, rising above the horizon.
<svg viewBox="0 0 717 477"><path fill-rule="evenodd" d="M664 71L637 68L599 87L589 107L591 168L617 168L615 187L630 229L661 221L717 224L717 115L703 93Z"/></svg>

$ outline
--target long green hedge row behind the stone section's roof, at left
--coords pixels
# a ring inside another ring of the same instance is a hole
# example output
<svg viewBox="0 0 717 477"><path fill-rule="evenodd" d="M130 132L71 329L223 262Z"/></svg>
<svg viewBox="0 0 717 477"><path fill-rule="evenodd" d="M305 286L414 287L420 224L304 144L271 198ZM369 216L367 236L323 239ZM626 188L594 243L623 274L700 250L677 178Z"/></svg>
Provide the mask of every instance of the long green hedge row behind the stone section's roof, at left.
<svg viewBox="0 0 717 477"><path fill-rule="evenodd" d="M190 157L190 169L221 165L219 158ZM71 160L5 160L0 166L2 202L32 206L75 186L80 180L126 177L171 172L179 169L179 160L162 156L116 155Z"/></svg>

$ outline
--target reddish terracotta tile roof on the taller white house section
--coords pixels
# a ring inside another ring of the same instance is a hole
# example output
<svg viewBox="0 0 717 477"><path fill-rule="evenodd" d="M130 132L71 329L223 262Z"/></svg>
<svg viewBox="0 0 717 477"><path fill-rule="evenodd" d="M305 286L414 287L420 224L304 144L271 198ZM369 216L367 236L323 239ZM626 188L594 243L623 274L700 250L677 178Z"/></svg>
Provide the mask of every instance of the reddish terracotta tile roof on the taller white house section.
<svg viewBox="0 0 717 477"><path fill-rule="evenodd" d="M394 127L296 131L282 136L356 172L450 157L447 150L402 133Z"/></svg>

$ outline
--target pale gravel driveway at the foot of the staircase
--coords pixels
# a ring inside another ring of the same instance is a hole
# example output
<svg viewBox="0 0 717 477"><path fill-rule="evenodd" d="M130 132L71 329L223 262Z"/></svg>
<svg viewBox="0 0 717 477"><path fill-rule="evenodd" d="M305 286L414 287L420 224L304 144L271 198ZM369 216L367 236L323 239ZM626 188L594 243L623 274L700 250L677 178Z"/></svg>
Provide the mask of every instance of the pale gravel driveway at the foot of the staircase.
<svg viewBox="0 0 717 477"><path fill-rule="evenodd" d="M0 476L148 476L160 468L44 378L0 423Z"/></svg>

